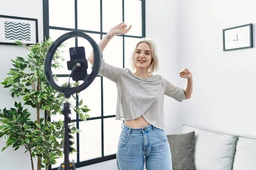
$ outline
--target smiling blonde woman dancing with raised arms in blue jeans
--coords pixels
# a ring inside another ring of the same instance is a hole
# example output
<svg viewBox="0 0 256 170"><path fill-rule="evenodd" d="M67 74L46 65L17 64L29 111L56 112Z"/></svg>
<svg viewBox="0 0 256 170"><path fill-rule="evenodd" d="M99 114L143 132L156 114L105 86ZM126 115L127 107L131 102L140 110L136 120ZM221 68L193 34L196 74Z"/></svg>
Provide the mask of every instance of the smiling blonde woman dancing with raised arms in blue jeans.
<svg viewBox="0 0 256 170"><path fill-rule="evenodd" d="M115 35L126 34L130 29L125 23L111 28L98 44L101 52ZM116 83L116 119L125 119L116 153L117 167L143 170L145 162L147 170L172 170L170 146L164 131L164 95L179 102L189 99L192 73L187 68L180 71L180 77L187 79L184 89L152 74L159 67L157 48L148 38L142 38L135 45L131 59L134 72L109 65L102 59L98 73ZM93 51L88 60L93 65Z"/></svg>

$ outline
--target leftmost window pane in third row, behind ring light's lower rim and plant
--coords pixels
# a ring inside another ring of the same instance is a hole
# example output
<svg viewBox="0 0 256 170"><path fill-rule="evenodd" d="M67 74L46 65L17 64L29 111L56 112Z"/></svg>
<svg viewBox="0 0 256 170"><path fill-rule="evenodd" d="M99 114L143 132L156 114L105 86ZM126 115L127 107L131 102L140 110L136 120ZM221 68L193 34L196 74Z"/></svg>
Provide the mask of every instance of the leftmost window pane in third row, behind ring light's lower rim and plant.
<svg viewBox="0 0 256 170"><path fill-rule="evenodd" d="M59 85L60 87L64 84L67 83L68 84L69 81L69 77L58 77L58 81L56 82L57 85ZM72 78L70 78L70 83L75 83L75 81L72 80ZM74 96L76 96L76 94L74 94ZM73 106L76 106L76 100L71 96L69 98L69 103L72 104ZM61 105L61 111L63 109L64 104ZM76 112L73 110L73 108L70 106L70 110L71 110L71 115L70 118L71 119L76 119ZM59 121L59 120L64 121L64 116L59 113L56 113L56 115L52 115L51 116L51 121Z"/></svg>

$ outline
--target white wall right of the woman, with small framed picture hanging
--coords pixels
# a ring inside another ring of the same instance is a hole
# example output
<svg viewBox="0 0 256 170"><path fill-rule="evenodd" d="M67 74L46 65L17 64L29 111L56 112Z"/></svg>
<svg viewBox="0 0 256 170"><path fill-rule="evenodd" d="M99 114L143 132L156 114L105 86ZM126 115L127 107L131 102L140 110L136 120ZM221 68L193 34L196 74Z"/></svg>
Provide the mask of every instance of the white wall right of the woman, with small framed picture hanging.
<svg viewBox="0 0 256 170"><path fill-rule="evenodd" d="M178 67L192 71L194 91L178 107L177 128L256 136L256 48L224 52L222 43L223 29L253 23L255 44L255 6L255 0L178 1Z"/></svg>

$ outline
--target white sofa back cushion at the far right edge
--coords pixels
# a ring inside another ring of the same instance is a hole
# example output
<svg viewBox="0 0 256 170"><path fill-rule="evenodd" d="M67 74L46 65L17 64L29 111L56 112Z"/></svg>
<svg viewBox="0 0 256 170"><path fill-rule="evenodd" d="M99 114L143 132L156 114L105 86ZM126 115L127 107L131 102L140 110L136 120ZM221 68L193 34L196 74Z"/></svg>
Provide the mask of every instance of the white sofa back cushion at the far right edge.
<svg viewBox="0 0 256 170"><path fill-rule="evenodd" d="M256 137L239 136L233 170L256 170Z"/></svg>

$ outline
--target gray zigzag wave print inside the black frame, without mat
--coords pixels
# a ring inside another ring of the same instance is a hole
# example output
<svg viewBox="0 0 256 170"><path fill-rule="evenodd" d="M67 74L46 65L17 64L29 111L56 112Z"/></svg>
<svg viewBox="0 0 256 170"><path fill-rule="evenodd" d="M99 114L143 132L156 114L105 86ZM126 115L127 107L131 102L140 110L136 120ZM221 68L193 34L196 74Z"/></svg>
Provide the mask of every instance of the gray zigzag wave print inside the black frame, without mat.
<svg viewBox="0 0 256 170"><path fill-rule="evenodd" d="M30 24L5 21L4 32L6 40L30 41Z"/></svg>

